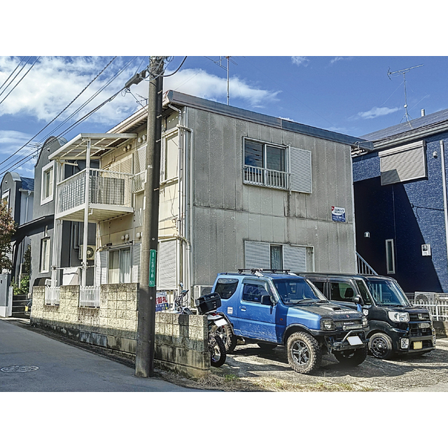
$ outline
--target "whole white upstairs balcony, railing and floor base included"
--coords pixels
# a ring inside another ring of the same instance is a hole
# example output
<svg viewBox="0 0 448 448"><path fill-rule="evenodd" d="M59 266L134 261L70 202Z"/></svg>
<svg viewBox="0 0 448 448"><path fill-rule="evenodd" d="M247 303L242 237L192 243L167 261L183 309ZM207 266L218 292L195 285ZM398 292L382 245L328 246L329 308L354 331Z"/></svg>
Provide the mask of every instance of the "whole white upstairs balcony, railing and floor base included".
<svg viewBox="0 0 448 448"><path fill-rule="evenodd" d="M57 184L56 219L84 221L85 176L83 171ZM134 175L104 169L89 170L89 222L99 223L133 213Z"/></svg>

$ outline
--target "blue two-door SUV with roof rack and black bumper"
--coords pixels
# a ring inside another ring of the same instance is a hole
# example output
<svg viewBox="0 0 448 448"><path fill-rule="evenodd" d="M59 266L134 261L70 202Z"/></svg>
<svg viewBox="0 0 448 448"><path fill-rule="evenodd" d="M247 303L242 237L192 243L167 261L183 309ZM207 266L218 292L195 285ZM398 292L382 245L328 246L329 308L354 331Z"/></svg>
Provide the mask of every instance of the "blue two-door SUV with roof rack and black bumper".
<svg viewBox="0 0 448 448"><path fill-rule="evenodd" d="M289 271L239 269L218 274L212 292L236 337L261 349L286 346L288 363L299 373L321 366L322 354L359 365L367 356L367 318L326 299L311 281Z"/></svg>

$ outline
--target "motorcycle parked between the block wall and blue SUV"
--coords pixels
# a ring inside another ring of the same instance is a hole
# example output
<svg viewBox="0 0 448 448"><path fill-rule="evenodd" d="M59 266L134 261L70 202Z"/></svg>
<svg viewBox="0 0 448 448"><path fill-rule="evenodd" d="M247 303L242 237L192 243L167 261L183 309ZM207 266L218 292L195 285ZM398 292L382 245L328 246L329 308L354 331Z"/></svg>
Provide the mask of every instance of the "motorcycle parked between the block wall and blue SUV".
<svg viewBox="0 0 448 448"><path fill-rule="evenodd" d="M181 288L183 288L182 283L180 286ZM174 311L179 314L193 314L193 311L191 311L191 309L184 304L184 302L186 302L187 295L188 290L182 290L181 294L174 299ZM200 297L200 300L202 298L203 297ZM220 304L218 304L218 307L221 306L221 297L219 297L219 302ZM204 305L204 303L207 303L207 305ZM213 307L213 305L211 305L207 300L202 300L201 305L198 305L198 311L199 314L207 315L207 323L209 328L208 348L210 352L210 363L214 367L221 367L221 365L225 363L226 351L223 339L221 339L221 337L216 333L216 328L219 328L222 325L226 325L227 321L221 318L221 316L216 316L216 313L212 315L209 311L207 311L206 308L210 306ZM218 307L215 307L214 309L217 309Z"/></svg>

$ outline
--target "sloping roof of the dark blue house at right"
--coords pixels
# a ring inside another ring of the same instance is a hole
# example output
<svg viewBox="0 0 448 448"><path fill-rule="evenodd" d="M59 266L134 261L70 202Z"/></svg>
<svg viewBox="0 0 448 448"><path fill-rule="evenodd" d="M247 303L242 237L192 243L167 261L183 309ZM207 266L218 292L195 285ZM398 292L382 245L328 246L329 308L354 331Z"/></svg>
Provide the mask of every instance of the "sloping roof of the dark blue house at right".
<svg viewBox="0 0 448 448"><path fill-rule="evenodd" d="M446 130L448 130L448 109L430 113L400 125L386 127L386 129L363 135L361 138L372 141L374 148L385 148L405 141L423 139Z"/></svg>

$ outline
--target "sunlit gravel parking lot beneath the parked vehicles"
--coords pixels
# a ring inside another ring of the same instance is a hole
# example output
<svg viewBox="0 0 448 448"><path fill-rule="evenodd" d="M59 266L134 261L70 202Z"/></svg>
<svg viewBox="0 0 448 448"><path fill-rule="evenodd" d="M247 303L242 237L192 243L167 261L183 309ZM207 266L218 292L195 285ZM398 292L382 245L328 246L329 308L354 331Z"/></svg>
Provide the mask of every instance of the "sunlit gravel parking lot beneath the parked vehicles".
<svg viewBox="0 0 448 448"><path fill-rule="evenodd" d="M197 383L228 391L446 391L447 385L448 339L438 339L436 349L423 356L367 356L358 367L342 367L325 355L311 375L293 372L283 347L266 352L256 344L238 345L223 367L212 368L211 377Z"/></svg>

